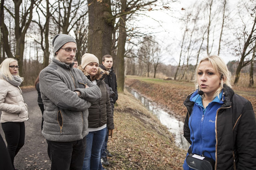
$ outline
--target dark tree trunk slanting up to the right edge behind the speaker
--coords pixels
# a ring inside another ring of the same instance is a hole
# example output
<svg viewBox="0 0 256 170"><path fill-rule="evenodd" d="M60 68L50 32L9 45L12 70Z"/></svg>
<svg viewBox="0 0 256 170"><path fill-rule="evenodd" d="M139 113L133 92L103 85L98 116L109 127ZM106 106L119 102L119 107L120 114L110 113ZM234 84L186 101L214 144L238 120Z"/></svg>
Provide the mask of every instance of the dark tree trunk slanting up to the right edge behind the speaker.
<svg viewBox="0 0 256 170"><path fill-rule="evenodd" d="M242 56L241 56L240 62L239 62L238 66L237 66L237 69L236 69L236 78L235 78L234 84L238 84L238 80L240 78L240 72L241 72L242 68L245 66L245 64L244 64L244 58L246 57L245 53L246 53L246 49L250 45L250 40L252 38L252 34L255 31L254 30L255 24L256 24L256 15L255 15L255 18L254 18L254 24L252 26L252 31L251 31L250 35L248 36L247 41L244 43L244 49L243 49L243 52L242 52Z"/></svg>

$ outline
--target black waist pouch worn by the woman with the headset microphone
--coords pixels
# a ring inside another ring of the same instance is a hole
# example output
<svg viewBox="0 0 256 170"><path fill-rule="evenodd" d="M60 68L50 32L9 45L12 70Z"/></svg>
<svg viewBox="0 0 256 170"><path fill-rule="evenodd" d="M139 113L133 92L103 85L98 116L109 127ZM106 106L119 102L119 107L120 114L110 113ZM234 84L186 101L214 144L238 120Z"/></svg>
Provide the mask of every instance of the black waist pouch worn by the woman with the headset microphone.
<svg viewBox="0 0 256 170"><path fill-rule="evenodd" d="M189 154L186 158L188 166L194 170L214 170L215 160L197 154Z"/></svg>

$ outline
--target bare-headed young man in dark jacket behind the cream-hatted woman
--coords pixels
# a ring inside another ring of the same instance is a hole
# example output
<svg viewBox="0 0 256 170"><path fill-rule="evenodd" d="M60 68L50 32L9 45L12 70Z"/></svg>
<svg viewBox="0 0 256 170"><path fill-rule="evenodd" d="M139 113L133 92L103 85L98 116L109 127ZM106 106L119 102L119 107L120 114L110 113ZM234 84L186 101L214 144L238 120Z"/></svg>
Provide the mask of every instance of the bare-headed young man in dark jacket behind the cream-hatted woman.
<svg viewBox="0 0 256 170"><path fill-rule="evenodd" d="M100 68L103 70L109 71L109 74L105 77L104 81L110 88L112 88L115 95L112 95L112 99L114 101L114 104L116 103L116 100L118 100L118 93L117 93L117 83L116 83L116 74L113 70L113 58L111 55L104 55L102 57L102 64L100 64ZM111 92L111 89L110 89ZM113 108L114 109L114 108ZM108 134L108 132L106 133ZM108 135L106 135L105 142L102 147L102 157L100 162L104 165L109 165L107 156L112 157L112 154L107 150L107 143L108 143Z"/></svg>

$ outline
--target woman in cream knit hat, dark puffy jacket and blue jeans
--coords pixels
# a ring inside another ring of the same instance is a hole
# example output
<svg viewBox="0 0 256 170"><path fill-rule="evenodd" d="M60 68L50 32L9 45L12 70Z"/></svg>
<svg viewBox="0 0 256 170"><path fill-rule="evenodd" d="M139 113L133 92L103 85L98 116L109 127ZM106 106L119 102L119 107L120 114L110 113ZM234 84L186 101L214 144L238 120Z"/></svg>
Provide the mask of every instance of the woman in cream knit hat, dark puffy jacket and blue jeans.
<svg viewBox="0 0 256 170"><path fill-rule="evenodd" d="M101 148L105 140L107 127L110 135L113 134L114 130L112 107L106 90L106 84L103 80L108 72L104 72L99 68L98 58L89 53L82 56L82 62L79 68L89 80L99 86L101 91L101 98L92 103L88 109L89 134L86 136L86 151L83 165L83 170L98 170Z"/></svg>

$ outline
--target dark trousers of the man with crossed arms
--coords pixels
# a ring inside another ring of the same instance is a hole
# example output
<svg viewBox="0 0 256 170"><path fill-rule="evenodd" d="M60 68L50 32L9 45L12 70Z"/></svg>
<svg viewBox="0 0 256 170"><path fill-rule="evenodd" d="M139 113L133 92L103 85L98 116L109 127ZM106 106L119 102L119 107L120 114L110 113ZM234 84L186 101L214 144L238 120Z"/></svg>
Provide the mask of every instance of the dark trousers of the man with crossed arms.
<svg viewBox="0 0 256 170"><path fill-rule="evenodd" d="M86 137L73 142L48 141L51 170L81 170L86 148Z"/></svg>

